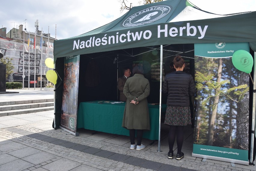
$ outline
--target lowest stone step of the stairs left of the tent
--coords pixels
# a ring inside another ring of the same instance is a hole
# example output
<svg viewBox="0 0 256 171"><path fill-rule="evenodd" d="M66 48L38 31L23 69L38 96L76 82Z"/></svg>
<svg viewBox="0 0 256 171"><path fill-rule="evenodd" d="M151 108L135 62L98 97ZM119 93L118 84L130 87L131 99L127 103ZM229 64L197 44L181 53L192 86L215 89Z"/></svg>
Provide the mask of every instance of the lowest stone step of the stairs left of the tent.
<svg viewBox="0 0 256 171"><path fill-rule="evenodd" d="M36 108L31 108L31 109L5 110L5 111L0 111L0 116L35 113L35 112L43 112L43 111L48 111L48 110L54 110L54 106L36 107Z"/></svg>

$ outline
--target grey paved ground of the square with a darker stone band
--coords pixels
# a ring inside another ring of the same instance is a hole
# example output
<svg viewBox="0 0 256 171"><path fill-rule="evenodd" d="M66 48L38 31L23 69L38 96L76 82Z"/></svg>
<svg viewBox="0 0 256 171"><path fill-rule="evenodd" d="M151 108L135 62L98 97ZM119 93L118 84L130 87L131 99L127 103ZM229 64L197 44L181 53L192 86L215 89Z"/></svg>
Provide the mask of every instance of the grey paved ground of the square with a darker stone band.
<svg viewBox="0 0 256 171"><path fill-rule="evenodd" d="M11 91L11 90L8 90ZM19 98L32 98L36 93L41 98L51 96L49 92L19 90ZM45 93L45 94L44 94ZM0 101L17 99L17 94L0 94ZM53 92L52 92L53 95ZM10 97L12 96L12 98ZM47 97L49 98L49 97ZM52 128L54 111L0 117L0 170L35 171L114 171L114 170L256 170L255 166L235 164L192 157L193 128L185 128L180 161L168 159L168 127L161 125L161 152L157 152L158 141L143 139L146 146L141 151L130 150L127 136L78 129L75 137L61 129ZM175 146L176 148L176 146ZM174 150L174 155L177 149Z"/></svg>

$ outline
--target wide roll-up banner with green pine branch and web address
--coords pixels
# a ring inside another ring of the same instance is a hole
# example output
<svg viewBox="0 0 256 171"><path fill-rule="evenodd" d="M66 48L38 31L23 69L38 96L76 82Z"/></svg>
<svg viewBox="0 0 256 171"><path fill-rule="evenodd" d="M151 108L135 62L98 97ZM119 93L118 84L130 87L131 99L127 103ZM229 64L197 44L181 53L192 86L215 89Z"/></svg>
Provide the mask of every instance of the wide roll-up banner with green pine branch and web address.
<svg viewBox="0 0 256 171"><path fill-rule="evenodd" d="M249 52L249 43L194 46L197 95L192 156L249 164L250 77L232 63L237 50ZM235 62L253 62L246 59Z"/></svg>

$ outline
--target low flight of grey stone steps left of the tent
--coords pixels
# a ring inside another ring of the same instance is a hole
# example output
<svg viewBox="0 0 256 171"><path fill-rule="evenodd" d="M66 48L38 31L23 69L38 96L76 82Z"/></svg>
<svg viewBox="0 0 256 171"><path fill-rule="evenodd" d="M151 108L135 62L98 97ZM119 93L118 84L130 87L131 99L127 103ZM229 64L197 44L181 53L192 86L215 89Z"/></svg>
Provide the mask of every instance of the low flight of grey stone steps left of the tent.
<svg viewBox="0 0 256 171"><path fill-rule="evenodd" d="M0 102L0 116L54 110L53 99Z"/></svg>

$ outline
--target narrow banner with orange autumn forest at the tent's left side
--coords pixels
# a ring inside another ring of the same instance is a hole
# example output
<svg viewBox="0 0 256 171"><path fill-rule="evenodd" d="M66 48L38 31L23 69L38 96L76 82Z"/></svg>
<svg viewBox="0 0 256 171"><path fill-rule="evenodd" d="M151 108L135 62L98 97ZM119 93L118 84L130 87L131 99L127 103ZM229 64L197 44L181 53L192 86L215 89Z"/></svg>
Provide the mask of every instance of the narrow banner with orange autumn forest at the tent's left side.
<svg viewBox="0 0 256 171"><path fill-rule="evenodd" d="M62 95L62 115L60 128L76 133L78 106L78 78L80 55L67 56L64 62L64 84Z"/></svg>

